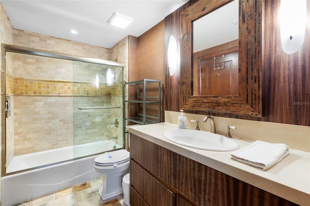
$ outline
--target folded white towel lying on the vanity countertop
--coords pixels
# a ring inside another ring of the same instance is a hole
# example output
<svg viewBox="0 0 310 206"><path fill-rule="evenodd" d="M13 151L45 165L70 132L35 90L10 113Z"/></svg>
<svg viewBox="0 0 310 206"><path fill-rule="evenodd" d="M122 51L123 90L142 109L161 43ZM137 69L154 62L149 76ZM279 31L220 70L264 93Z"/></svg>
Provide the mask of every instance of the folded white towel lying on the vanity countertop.
<svg viewBox="0 0 310 206"><path fill-rule="evenodd" d="M255 141L246 147L233 151L231 158L261 170L266 170L280 162L288 154L290 154L290 150L285 144Z"/></svg>

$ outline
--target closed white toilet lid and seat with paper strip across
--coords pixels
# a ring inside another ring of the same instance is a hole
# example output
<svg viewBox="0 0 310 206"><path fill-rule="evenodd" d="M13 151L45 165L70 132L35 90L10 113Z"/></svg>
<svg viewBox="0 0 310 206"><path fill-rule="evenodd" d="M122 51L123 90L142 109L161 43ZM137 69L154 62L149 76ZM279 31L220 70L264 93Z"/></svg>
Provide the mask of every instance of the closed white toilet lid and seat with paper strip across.
<svg viewBox="0 0 310 206"><path fill-rule="evenodd" d="M97 166L117 166L129 161L129 152L126 149L106 152L95 158Z"/></svg>

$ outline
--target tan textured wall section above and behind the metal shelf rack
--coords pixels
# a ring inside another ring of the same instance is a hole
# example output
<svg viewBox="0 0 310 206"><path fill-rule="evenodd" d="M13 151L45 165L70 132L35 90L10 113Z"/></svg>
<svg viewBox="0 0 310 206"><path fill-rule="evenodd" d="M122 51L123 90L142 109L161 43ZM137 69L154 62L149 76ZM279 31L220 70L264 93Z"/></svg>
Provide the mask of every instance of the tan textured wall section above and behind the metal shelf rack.
<svg viewBox="0 0 310 206"><path fill-rule="evenodd" d="M140 79L161 80L161 121L165 121L165 20L162 20L138 38L132 36L129 38L129 81ZM150 86L156 93L154 96L157 96L158 88ZM135 97L136 93L136 90L131 89L129 97ZM148 105L147 111L148 115L158 116L156 105ZM129 116L135 117L136 113L137 110L134 106L129 108Z"/></svg>

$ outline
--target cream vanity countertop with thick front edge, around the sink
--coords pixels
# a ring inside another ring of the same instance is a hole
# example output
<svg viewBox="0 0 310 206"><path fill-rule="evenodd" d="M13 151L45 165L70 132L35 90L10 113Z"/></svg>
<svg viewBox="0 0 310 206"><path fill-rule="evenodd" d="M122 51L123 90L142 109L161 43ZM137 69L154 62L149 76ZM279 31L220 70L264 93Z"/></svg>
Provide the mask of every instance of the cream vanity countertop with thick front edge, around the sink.
<svg viewBox="0 0 310 206"><path fill-rule="evenodd" d="M163 122L129 127L129 132L298 205L310 206L310 153L290 149L290 154L281 162L263 171L232 160L232 151L185 147L163 136L167 130L177 128L175 124ZM252 143L236 138L233 140L241 147Z"/></svg>

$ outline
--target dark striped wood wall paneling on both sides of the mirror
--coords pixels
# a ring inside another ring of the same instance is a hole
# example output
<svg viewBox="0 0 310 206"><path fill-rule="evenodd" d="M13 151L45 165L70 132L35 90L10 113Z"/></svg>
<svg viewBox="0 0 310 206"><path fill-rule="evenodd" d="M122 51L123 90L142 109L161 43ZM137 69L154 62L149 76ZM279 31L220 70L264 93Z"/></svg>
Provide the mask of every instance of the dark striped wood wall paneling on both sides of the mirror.
<svg viewBox="0 0 310 206"><path fill-rule="evenodd" d="M180 13L193 3L195 1L188 1L166 17L166 48L171 34L179 43ZM290 55L285 54L281 46L279 6L280 1L265 1L263 118L260 120L310 126L310 2L307 1L305 42L298 52ZM180 71L171 77L166 65L165 74L165 108L179 111Z"/></svg>

